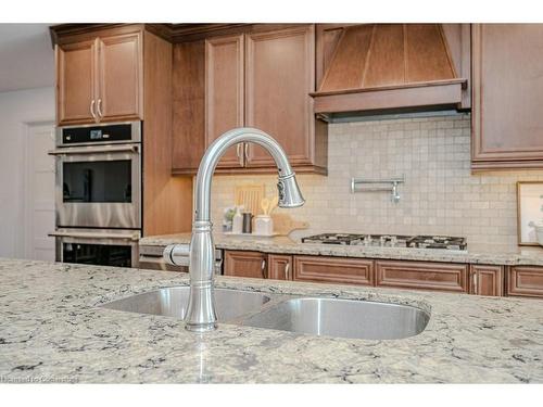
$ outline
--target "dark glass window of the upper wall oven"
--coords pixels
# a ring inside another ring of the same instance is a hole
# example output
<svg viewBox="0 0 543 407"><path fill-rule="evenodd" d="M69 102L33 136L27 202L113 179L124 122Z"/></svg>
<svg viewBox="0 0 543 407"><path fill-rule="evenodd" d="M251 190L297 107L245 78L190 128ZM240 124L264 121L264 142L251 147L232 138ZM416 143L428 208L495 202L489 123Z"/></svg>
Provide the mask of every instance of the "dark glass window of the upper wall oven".
<svg viewBox="0 0 543 407"><path fill-rule="evenodd" d="M64 202L131 202L131 161L63 163Z"/></svg>

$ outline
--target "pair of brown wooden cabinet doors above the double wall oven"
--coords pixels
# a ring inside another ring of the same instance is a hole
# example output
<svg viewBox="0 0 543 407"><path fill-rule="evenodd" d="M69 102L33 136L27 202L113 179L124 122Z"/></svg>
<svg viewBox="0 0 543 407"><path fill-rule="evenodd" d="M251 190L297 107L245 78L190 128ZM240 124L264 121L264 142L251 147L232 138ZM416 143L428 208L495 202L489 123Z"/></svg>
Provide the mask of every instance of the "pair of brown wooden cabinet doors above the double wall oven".
<svg viewBox="0 0 543 407"><path fill-rule="evenodd" d="M59 125L143 118L141 33L94 36L55 52Z"/></svg>

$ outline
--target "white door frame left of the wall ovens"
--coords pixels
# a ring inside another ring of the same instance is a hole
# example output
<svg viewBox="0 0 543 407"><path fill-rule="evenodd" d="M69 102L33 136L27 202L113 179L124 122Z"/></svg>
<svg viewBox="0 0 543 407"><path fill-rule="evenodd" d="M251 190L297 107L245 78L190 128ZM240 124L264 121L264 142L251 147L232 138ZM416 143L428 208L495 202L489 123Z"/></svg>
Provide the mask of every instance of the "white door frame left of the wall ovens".
<svg viewBox="0 0 543 407"><path fill-rule="evenodd" d="M29 164L29 161L31 160L30 157L30 148L29 148L29 143L30 143L30 132L31 132L31 129L35 128L35 127L40 127L40 126L51 126L52 128L54 128L54 120L36 120L36 122L25 122L23 123L23 126L24 126L24 131L23 131L23 156L21 160L21 174L23 176L23 179L22 179L22 188L21 188L21 193L20 193L20 202L21 202L21 212L20 214L22 215L22 219L21 219L21 234L20 234L20 239L18 239L18 247L17 247L17 253L18 253L18 257L22 257L22 258L30 258L30 254L33 252L33 244L31 244L31 241L34 239L34 237L31 236L31 222L30 222L30 218L33 216L33 214L30 213L31 208L30 208L30 205L28 204L29 202L31 202L33 200L33 191L30 190L29 186L30 186L30 166L28 165ZM53 230L51 230L53 231Z"/></svg>

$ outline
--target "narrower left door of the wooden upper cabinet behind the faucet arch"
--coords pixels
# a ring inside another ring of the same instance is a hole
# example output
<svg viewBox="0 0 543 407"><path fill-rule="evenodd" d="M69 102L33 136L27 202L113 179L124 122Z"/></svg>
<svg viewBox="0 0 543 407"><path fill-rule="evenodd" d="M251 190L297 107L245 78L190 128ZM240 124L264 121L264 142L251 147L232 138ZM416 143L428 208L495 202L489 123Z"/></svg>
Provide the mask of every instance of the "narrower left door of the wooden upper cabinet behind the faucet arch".
<svg viewBox="0 0 543 407"><path fill-rule="evenodd" d="M225 131L242 127L243 35L205 40L205 144ZM243 167L243 145L230 148L217 167Z"/></svg>

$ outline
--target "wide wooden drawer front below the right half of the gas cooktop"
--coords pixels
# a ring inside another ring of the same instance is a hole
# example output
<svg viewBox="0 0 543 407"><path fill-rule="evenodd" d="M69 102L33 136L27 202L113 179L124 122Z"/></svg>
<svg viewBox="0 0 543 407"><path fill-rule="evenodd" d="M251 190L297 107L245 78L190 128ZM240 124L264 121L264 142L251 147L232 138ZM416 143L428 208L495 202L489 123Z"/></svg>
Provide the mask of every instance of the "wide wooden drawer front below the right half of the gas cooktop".
<svg viewBox="0 0 543 407"><path fill-rule="evenodd" d="M467 292L467 265L377 262L376 268L377 287Z"/></svg>

